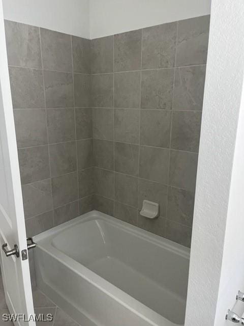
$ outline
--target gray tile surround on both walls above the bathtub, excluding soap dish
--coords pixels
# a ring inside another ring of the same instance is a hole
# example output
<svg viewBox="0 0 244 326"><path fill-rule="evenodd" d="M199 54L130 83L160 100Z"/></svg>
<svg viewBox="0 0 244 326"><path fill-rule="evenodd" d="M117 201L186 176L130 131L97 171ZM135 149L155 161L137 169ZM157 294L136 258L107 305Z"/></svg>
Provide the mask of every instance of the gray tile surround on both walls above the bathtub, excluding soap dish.
<svg viewBox="0 0 244 326"><path fill-rule="evenodd" d="M29 236L95 208L190 246L208 28L90 41L6 21Z"/></svg>

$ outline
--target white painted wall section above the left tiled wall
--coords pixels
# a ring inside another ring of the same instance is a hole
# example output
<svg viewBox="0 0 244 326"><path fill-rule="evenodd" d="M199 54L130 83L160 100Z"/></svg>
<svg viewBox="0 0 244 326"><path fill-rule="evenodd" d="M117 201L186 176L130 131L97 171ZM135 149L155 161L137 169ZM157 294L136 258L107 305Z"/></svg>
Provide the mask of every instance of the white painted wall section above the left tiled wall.
<svg viewBox="0 0 244 326"><path fill-rule="evenodd" d="M3 0L4 18L89 38L89 0Z"/></svg>

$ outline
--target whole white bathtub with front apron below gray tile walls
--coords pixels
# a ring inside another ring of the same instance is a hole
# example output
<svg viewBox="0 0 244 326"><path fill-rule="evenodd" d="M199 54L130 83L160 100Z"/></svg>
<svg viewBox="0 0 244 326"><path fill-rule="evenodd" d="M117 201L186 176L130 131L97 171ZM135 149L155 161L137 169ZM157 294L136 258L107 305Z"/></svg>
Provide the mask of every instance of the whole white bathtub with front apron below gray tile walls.
<svg viewBox="0 0 244 326"><path fill-rule="evenodd" d="M184 324L188 248L98 211L35 241L38 288L82 326Z"/></svg>

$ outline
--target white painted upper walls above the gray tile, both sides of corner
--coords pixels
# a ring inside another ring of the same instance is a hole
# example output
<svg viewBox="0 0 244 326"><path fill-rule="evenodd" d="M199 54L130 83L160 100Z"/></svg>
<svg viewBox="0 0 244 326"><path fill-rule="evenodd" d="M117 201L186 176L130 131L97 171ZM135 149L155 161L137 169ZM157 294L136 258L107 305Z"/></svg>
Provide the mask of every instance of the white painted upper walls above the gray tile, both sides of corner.
<svg viewBox="0 0 244 326"><path fill-rule="evenodd" d="M4 18L97 38L207 15L211 0L3 0Z"/></svg>

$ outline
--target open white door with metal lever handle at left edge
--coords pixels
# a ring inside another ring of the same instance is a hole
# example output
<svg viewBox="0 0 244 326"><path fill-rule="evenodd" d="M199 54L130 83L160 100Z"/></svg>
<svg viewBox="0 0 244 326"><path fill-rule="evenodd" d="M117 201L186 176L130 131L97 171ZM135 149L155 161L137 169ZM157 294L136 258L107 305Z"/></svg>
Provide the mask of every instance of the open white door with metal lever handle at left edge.
<svg viewBox="0 0 244 326"><path fill-rule="evenodd" d="M31 278L27 252L24 211L15 139L7 50L5 43L3 4L0 0L0 251L6 302L10 313L34 315ZM19 257L7 257L3 251L18 246ZM2 316L0 317L2 318ZM35 326L34 321L16 321L16 325Z"/></svg>

